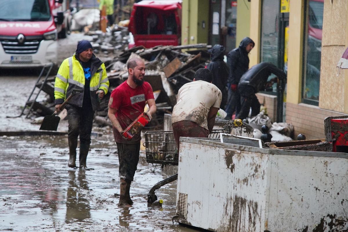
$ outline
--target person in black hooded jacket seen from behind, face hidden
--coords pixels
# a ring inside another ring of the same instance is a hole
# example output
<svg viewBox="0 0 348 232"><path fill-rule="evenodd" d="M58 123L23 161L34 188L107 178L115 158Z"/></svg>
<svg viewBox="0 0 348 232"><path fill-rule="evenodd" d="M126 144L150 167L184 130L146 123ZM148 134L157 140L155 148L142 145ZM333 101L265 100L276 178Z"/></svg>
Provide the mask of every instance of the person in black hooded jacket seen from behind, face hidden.
<svg viewBox="0 0 348 232"><path fill-rule="evenodd" d="M229 67L223 61L225 47L219 44L214 45L208 52L211 54L212 62L207 66L207 69L213 73L212 83L220 89L222 93L221 109L225 109L227 102L227 80L229 74Z"/></svg>

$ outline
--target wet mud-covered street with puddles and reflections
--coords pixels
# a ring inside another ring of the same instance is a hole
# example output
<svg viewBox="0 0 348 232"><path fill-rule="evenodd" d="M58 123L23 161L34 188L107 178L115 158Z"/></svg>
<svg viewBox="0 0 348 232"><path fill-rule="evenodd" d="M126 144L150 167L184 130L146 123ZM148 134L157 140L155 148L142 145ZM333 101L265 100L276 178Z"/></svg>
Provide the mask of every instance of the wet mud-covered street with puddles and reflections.
<svg viewBox="0 0 348 232"><path fill-rule="evenodd" d="M59 63L74 53L82 38L71 34L59 40ZM0 131L39 130L25 115L7 118L21 113L38 73L0 70ZM38 101L44 98L39 95ZM61 121L58 131L67 129L67 120ZM147 163L144 151L130 189L134 205L125 209L117 207L118 156L112 130L93 127L87 158L93 170L68 168L67 143L66 135L0 137L0 231L195 231L172 222L176 182L156 191L164 200L161 207L148 206L147 193L166 174L160 165Z"/></svg>

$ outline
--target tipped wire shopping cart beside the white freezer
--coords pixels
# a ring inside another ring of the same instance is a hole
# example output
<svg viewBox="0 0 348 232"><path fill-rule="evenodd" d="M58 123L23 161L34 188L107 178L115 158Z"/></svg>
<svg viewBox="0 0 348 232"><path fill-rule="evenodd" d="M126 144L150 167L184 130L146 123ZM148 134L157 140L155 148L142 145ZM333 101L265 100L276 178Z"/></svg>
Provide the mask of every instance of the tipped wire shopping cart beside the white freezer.
<svg viewBox="0 0 348 232"><path fill-rule="evenodd" d="M209 138L219 138L225 129L212 130ZM159 163L162 168L167 165L178 165L179 154L176 147L173 131L147 131L145 132L145 153L148 163ZM157 200L155 191L165 184L177 180L177 174L170 176L155 184L148 193L148 203Z"/></svg>

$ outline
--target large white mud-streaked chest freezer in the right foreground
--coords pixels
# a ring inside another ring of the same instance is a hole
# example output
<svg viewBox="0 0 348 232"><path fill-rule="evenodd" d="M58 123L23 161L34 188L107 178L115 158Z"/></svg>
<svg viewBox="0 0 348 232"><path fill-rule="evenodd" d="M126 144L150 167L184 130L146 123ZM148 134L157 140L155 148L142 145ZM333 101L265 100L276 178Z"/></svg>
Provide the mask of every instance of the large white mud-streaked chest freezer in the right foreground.
<svg viewBox="0 0 348 232"><path fill-rule="evenodd" d="M180 141L176 222L216 232L348 229L346 153L265 149L246 137Z"/></svg>

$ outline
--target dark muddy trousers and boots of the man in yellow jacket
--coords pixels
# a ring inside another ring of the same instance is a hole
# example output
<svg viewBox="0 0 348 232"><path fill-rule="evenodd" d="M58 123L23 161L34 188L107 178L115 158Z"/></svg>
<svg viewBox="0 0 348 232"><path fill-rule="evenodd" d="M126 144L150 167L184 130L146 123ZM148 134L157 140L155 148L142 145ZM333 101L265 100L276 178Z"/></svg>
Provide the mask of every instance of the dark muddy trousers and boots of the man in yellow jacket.
<svg viewBox="0 0 348 232"><path fill-rule="evenodd" d="M90 145L90 134L92 132L94 111L90 107L76 107L67 104L65 109L68 111L68 144L69 162L68 166L76 167L76 148L77 138L80 136L80 157L79 167L87 168L86 161Z"/></svg>

